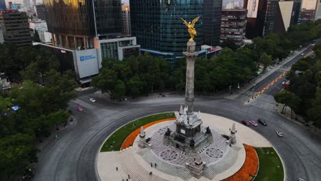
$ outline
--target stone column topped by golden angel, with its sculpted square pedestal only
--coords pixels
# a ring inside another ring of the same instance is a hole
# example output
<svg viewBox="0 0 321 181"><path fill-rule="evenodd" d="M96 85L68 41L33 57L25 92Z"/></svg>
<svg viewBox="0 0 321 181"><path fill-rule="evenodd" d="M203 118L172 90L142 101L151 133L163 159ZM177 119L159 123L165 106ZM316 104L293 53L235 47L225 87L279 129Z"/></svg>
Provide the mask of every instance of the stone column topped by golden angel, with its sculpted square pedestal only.
<svg viewBox="0 0 321 181"><path fill-rule="evenodd" d="M181 18L182 19L182 18ZM187 71L186 71L186 91L185 91L185 108L180 108L179 117L176 121L176 131L173 134L167 132L164 141L178 149L181 149L187 154L196 154L198 149L208 142L213 141L211 137L211 130L206 133L201 132L202 119L199 113L193 112L194 104L194 64L198 55L195 51L195 41L193 40L196 35L194 25L200 17L195 18L192 23L187 23L184 19L182 21L187 25L189 35L191 38L187 42L187 51L183 52L186 56Z"/></svg>

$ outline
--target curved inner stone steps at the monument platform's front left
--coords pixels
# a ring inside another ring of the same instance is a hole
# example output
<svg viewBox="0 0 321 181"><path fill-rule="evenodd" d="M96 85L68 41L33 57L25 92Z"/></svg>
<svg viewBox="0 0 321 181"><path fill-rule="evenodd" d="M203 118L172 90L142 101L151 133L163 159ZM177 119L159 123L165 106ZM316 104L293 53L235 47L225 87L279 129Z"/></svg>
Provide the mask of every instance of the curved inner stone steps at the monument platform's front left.
<svg viewBox="0 0 321 181"><path fill-rule="evenodd" d="M171 165L163 160L160 160L159 158L154 156L154 154L149 149L143 149L138 152L138 154L141 155L146 162L156 162L156 169L162 171L163 173L182 178L182 180L189 180L192 178L192 174L189 169L182 166Z"/></svg>

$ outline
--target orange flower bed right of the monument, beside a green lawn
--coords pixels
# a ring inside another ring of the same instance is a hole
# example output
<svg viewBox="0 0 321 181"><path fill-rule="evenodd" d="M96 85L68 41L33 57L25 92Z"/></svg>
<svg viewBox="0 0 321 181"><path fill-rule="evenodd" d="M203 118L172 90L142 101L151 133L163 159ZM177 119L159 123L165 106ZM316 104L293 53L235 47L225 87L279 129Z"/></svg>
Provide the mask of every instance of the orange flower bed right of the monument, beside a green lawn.
<svg viewBox="0 0 321 181"><path fill-rule="evenodd" d="M252 180L251 176L255 176L257 174L259 168L259 158L257 157L257 152L255 149L250 145L245 145L244 148L246 149L246 160L233 176L224 179L224 181L246 181Z"/></svg>

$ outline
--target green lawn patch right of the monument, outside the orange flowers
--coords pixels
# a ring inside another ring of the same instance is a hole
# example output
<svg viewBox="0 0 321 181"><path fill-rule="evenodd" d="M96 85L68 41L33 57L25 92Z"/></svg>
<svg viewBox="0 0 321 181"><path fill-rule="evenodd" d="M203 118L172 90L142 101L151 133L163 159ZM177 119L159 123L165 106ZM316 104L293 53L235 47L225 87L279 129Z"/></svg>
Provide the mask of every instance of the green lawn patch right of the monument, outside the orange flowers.
<svg viewBox="0 0 321 181"><path fill-rule="evenodd" d="M273 147L255 147L259 156L258 181L283 181L283 165ZM267 153L268 152L268 153Z"/></svg>

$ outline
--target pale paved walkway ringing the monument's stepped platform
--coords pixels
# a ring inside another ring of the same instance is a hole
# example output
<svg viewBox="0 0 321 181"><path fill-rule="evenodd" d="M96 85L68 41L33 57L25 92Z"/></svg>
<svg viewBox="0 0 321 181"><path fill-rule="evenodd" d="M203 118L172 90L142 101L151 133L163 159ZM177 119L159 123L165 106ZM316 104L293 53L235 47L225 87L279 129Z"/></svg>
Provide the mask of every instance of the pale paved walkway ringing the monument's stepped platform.
<svg viewBox="0 0 321 181"><path fill-rule="evenodd" d="M221 132L224 134L229 133L229 128L233 123L236 125L237 129L237 143L241 145L241 143L245 143L248 145L252 145L254 147L272 147L268 140L266 140L263 136L251 130L250 128L241 125L241 123L232 121L230 119L226 119L224 117L219 117L213 114L200 114L203 121L203 126L210 126L210 128L216 130L217 132ZM152 136L154 132L156 132L160 127L169 125L174 123L174 121L166 121L163 123L159 123L156 125L152 125L150 128L145 130L146 136ZM137 145L138 137L135 140L133 147L126 149L122 152L100 152L97 156L97 172L102 181L105 180L126 180L128 179L128 174L130 175L130 180L173 180L173 181L183 181L182 178L171 176L169 174L163 173L155 169L154 167L150 167L150 164L147 163L143 157L136 152L139 150ZM224 171L224 173L220 173L213 178L213 180L222 180L224 178L228 178L228 176L236 173L245 160L245 152L244 149L241 149L239 156L237 156L237 160L235 160L235 165L230 169ZM118 171L116 171L116 167ZM149 175L150 171L152 171L152 176ZM190 178L190 181L193 180L201 180L208 181L208 178Z"/></svg>

